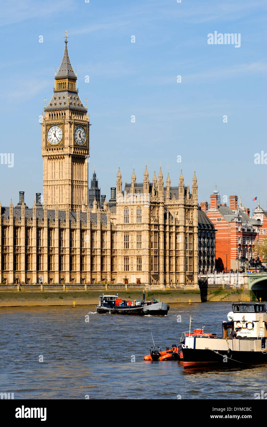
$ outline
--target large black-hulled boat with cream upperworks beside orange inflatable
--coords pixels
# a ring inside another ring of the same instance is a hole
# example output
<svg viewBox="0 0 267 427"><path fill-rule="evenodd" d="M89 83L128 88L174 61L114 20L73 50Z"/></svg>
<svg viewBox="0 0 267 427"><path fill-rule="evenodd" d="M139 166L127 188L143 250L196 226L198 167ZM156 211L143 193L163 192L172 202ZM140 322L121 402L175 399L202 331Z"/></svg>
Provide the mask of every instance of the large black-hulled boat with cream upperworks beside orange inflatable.
<svg viewBox="0 0 267 427"><path fill-rule="evenodd" d="M216 365L227 368L267 363L267 313L262 303L232 304L223 322L223 336L183 333L180 350L185 368ZM191 316L190 316L191 324Z"/></svg>

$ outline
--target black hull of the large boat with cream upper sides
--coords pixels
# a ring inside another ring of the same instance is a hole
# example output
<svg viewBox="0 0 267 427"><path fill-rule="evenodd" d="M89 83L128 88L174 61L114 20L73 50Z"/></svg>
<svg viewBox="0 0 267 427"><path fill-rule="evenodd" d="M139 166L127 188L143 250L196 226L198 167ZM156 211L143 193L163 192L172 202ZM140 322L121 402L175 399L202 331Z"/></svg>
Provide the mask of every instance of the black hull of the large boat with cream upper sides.
<svg viewBox="0 0 267 427"><path fill-rule="evenodd" d="M215 353L216 351L216 353ZM197 350L194 348L183 348L183 366L184 368L220 366L228 368L229 366L249 366L255 364L267 363L266 352L261 351L227 351L223 350Z"/></svg>

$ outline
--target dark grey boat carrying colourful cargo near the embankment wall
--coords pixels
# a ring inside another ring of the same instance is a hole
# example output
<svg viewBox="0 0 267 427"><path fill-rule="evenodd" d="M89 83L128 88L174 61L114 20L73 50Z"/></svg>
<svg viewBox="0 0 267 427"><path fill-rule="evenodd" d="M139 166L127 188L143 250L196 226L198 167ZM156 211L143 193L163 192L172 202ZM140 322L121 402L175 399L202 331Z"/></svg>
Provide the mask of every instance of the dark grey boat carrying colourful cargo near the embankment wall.
<svg viewBox="0 0 267 427"><path fill-rule="evenodd" d="M136 314L138 316L166 316L168 314L169 305L156 299L145 301L145 292L143 292L142 300L122 300L116 295L99 296L99 304L96 306L98 313L111 314Z"/></svg>

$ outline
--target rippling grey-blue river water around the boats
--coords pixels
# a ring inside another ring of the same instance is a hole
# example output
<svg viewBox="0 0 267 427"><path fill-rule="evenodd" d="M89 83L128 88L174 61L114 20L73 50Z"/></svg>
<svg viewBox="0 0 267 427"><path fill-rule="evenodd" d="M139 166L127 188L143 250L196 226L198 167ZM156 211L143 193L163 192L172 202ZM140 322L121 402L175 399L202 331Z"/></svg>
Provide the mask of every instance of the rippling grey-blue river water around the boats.
<svg viewBox="0 0 267 427"><path fill-rule="evenodd" d="M1 308L0 392L15 399L254 399L267 392L266 366L200 371L145 362L151 332L162 348L178 344L191 314L192 328L221 336L232 310L231 303L170 307L165 317L99 315L95 306Z"/></svg>

